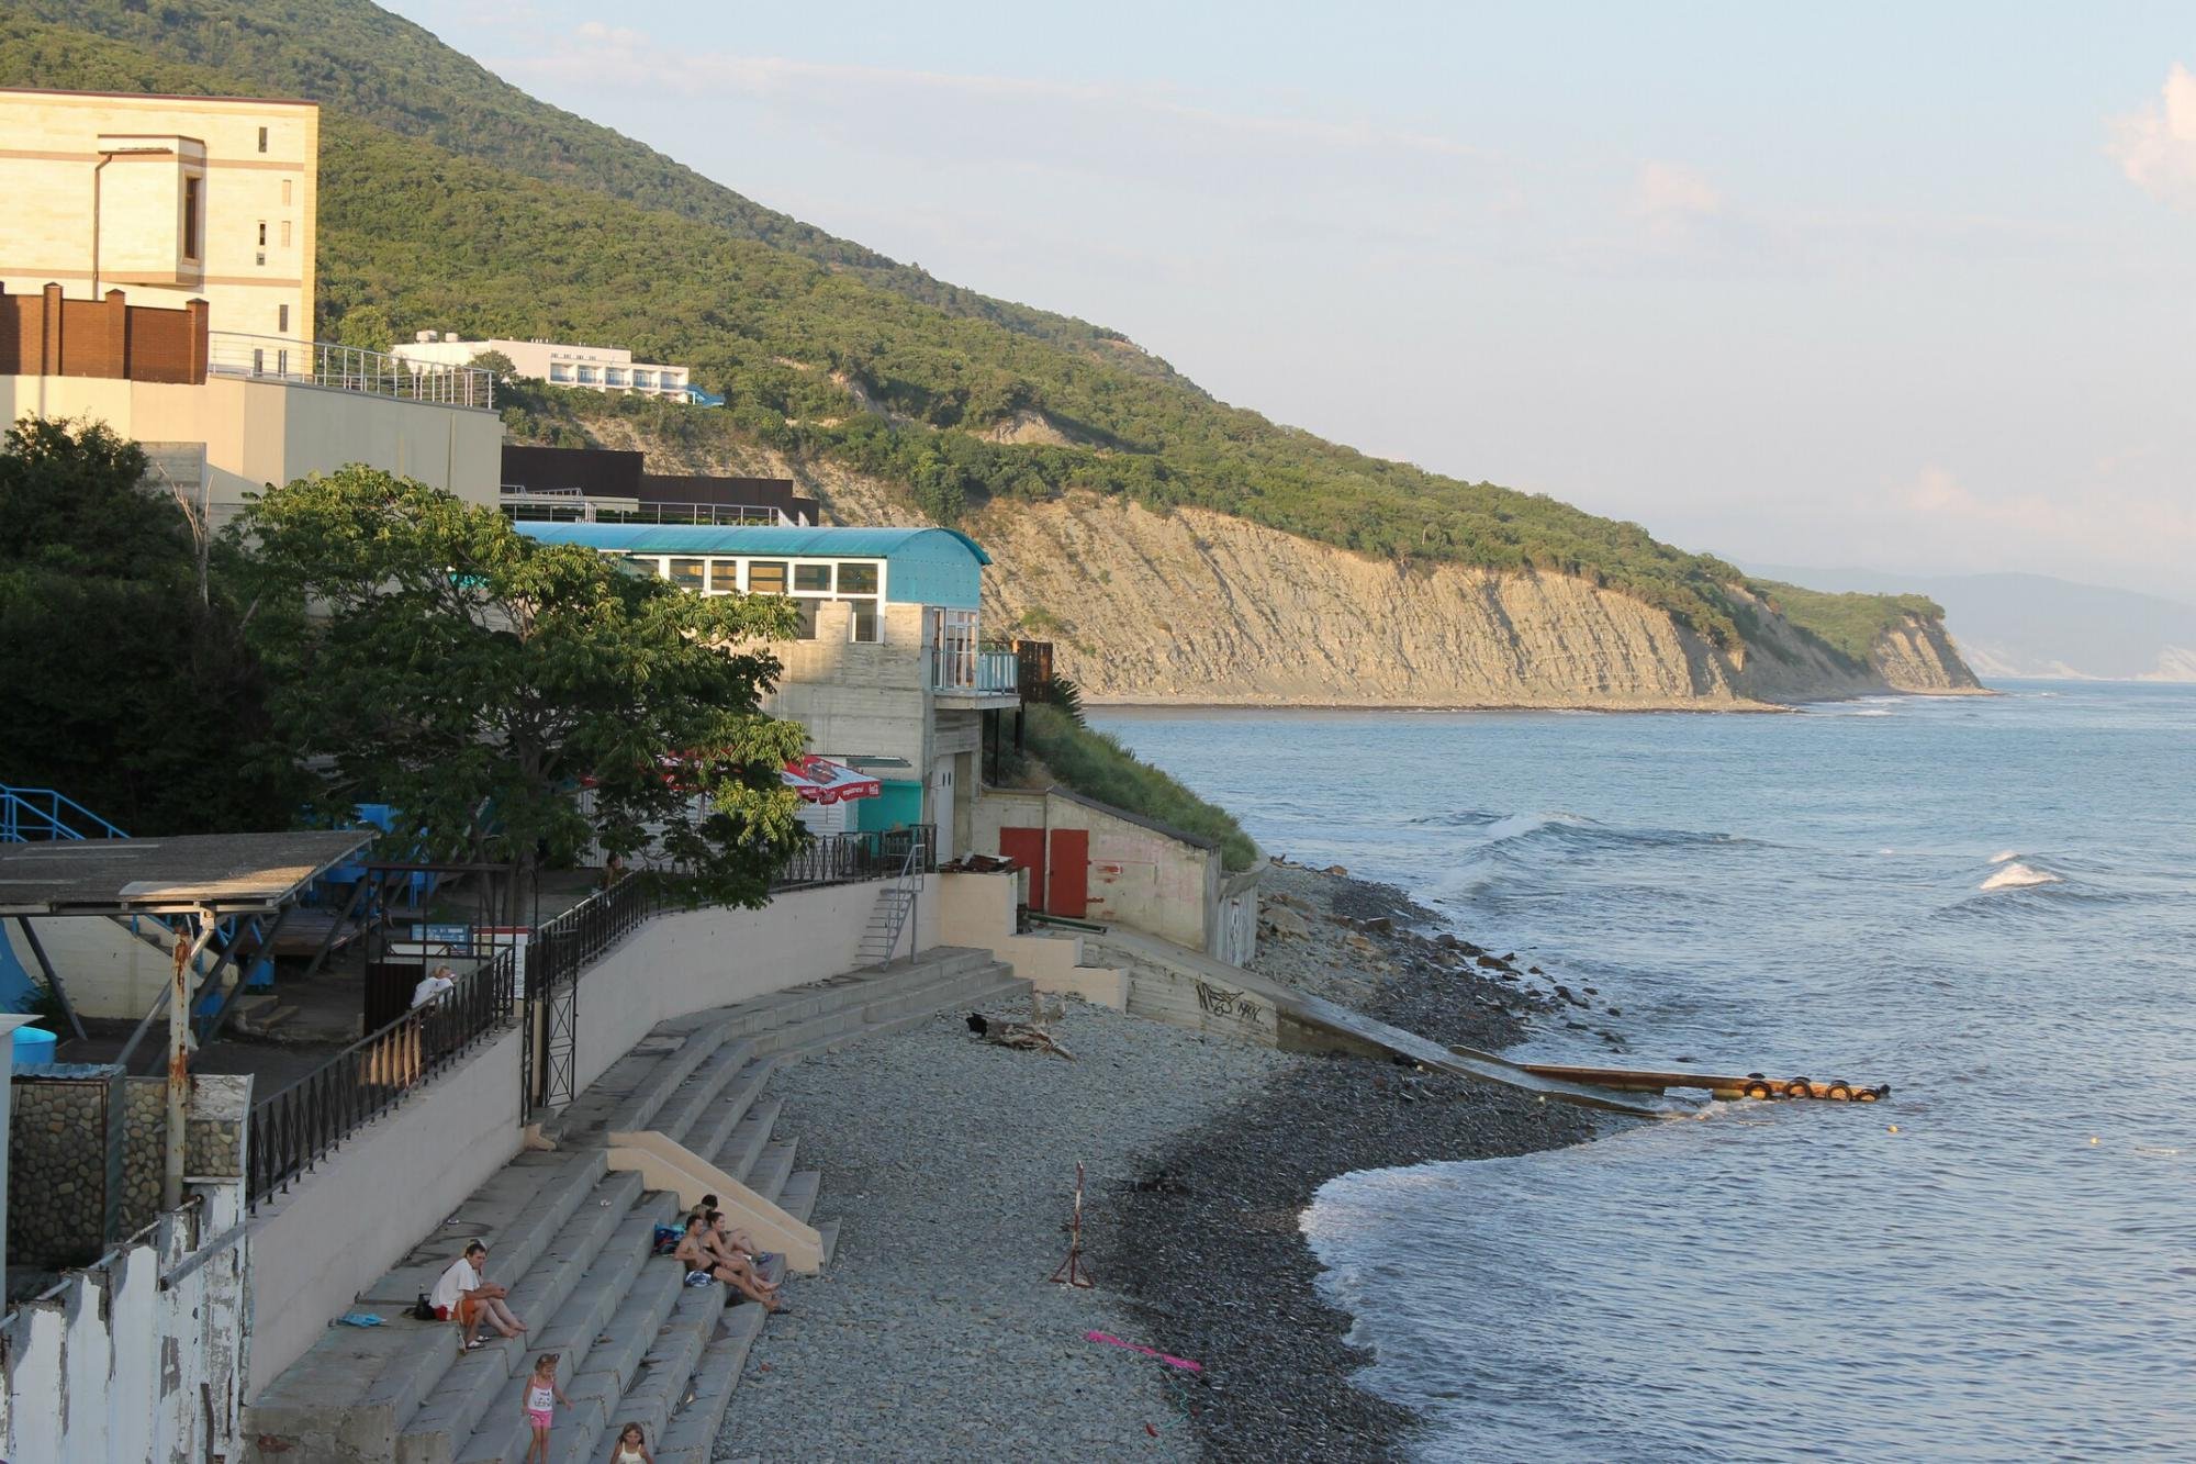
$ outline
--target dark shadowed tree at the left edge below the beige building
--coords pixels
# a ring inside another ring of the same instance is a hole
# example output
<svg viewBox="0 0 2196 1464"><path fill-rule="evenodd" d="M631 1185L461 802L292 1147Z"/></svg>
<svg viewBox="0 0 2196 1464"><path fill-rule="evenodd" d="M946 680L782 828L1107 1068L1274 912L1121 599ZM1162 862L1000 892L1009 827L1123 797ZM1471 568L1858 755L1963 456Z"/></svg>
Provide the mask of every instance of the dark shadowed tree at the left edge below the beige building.
<svg viewBox="0 0 2196 1464"><path fill-rule="evenodd" d="M189 488L189 486L184 486ZM103 424L24 420L0 446L0 783L53 787L136 835L283 829L233 556L193 495Z"/></svg>

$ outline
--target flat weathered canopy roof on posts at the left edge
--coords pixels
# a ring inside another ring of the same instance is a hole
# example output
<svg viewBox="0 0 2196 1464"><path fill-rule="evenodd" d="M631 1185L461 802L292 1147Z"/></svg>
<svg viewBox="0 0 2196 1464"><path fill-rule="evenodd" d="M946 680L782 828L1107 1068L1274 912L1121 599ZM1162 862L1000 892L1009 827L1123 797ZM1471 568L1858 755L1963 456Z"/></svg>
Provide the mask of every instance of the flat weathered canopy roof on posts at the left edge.
<svg viewBox="0 0 2196 1464"><path fill-rule="evenodd" d="M0 844L0 914L270 914L376 833Z"/></svg>

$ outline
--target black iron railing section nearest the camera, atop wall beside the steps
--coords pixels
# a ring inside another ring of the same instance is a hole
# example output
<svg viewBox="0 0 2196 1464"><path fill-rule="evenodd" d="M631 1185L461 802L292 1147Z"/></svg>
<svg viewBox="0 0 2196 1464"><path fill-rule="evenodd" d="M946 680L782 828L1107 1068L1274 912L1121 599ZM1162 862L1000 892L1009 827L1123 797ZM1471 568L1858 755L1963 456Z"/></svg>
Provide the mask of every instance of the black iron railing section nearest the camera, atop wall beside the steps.
<svg viewBox="0 0 2196 1464"><path fill-rule="evenodd" d="M512 952L457 978L441 1000L413 1007L343 1049L274 1097L253 1103L250 1202L290 1187L360 1125L455 1066L512 1016Z"/></svg>

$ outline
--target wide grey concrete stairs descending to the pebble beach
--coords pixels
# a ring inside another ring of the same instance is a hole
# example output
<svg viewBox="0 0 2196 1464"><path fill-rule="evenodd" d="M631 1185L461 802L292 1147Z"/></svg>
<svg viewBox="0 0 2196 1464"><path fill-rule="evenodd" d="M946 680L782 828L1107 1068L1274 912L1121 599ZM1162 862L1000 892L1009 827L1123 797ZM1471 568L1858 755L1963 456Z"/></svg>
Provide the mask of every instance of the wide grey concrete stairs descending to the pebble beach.
<svg viewBox="0 0 2196 1464"><path fill-rule="evenodd" d="M558 1409L556 1464L604 1457L626 1422L648 1429L659 1464L705 1464L764 1312L727 1308L725 1288L687 1288L679 1262L650 1255L654 1227L679 1222L679 1196L610 1172L608 1134L661 1132L808 1222L819 1176L797 1165L797 1141L777 1134L771 1073L1026 991L990 952L938 947L659 1024L545 1125L558 1150L514 1158L358 1299L384 1326L329 1328L259 1396L250 1457L516 1464L529 1442L523 1376L556 1352L573 1402ZM837 1224L817 1229L828 1257ZM531 1334L488 1332L492 1345L459 1352L455 1326L413 1321L404 1308L472 1238L488 1242L488 1275L512 1288ZM799 1306L797 1279L786 1297Z"/></svg>

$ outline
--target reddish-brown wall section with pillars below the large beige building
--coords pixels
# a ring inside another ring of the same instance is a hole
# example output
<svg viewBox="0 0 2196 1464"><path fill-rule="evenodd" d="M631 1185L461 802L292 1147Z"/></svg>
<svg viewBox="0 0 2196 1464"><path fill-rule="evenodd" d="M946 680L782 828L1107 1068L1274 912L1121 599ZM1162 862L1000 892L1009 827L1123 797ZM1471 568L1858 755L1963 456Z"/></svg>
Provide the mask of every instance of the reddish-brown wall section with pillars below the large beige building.
<svg viewBox="0 0 2196 1464"><path fill-rule="evenodd" d="M184 310L0 290L0 376L103 376L195 385L206 380L206 301Z"/></svg>

